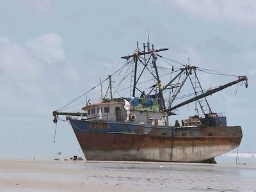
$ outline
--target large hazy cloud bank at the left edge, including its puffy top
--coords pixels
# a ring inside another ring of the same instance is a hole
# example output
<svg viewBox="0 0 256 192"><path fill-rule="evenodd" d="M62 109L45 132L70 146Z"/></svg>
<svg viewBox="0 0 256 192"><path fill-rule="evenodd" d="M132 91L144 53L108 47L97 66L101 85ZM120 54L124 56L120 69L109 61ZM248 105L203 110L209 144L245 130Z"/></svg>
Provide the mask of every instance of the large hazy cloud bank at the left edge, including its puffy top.
<svg viewBox="0 0 256 192"><path fill-rule="evenodd" d="M60 82L68 79L61 74L60 61L63 67L67 65L62 39L55 33L30 38L25 44L0 36L0 108L5 109L6 117L17 109L19 118L38 109L46 113L44 109L52 107L54 93L63 91ZM49 63L54 65L49 67ZM76 69L72 69L74 73Z"/></svg>

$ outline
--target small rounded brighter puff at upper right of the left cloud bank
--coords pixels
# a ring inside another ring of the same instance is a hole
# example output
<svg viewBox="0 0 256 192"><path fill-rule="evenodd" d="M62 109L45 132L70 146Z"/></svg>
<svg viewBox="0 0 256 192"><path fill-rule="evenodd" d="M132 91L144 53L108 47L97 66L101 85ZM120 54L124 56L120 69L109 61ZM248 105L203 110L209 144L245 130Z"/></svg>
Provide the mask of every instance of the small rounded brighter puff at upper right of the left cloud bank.
<svg viewBox="0 0 256 192"><path fill-rule="evenodd" d="M26 47L33 56L47 63L63 61L65 54L62 48L62 38L56 33L42 35L28 40Z"/></svg>

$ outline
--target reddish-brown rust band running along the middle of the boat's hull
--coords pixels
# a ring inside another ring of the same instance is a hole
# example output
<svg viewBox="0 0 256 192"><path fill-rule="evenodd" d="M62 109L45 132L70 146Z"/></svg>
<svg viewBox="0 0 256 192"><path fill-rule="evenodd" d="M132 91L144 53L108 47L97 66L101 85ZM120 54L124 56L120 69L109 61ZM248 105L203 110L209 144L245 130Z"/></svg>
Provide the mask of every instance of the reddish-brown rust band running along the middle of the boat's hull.
<svg viewBox="0 0 256 192"><path fill-rule="evenodd" d="M128 150L131 148L173 148L177 146L194 147L212 145L239 145L242 136L212 136L209 138L197 137L164 137L138 134L102 134L87 133L76 134L81 148L95 148L97 150ZM171 158L172 159L172 158Z"/></svg>

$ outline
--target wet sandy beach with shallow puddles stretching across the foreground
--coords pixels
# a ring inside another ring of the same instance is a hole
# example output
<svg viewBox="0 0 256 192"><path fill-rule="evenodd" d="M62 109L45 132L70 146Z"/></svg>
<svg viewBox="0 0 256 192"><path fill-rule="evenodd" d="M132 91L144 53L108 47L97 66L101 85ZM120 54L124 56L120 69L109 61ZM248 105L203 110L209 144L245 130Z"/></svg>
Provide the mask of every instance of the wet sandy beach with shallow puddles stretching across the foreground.
<svg viewBox="0 0 256 192"><path fill-rule="evenodd" d="M0 159L0 191L256 191L256 166Z"/></svg>

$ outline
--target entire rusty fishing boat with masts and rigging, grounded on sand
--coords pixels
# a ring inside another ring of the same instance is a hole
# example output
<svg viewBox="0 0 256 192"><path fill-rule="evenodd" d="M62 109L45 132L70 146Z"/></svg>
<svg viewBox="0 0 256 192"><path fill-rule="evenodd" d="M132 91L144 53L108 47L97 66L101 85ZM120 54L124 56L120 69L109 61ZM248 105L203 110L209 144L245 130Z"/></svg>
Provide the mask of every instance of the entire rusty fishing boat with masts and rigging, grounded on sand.
<svg viewBox="0 0 256 192"><path fill-rule="evenodd" d="M207 97L239 82L247 88L247 77L235 76L234 81L205 89L198 72L227 74L196 67L189 61L170 60L161 55L167 50L155 49L150 42L140 50L137 42L133 54L122 56L125 65L77 97L87 98L99 87L97 102L87 100L81 112L64 112L71 102L53 111L54 123L61 115L66 116L87 160L216 163L214 157L239 146L241 126L228 126L225 115L212 112ZM168 67L158 65L159 59ZM124 76L114 86L113 77L120 77L121 72ZM120 86L125 79L129 79L127 88ZM105 96L103 83L108 84ZM192 93L180 95L188 86ZM126 95L115 97L120 87ZM177 119L179 109L191 102L195 102L195 114L172 125L170 120Z"/></svg>

